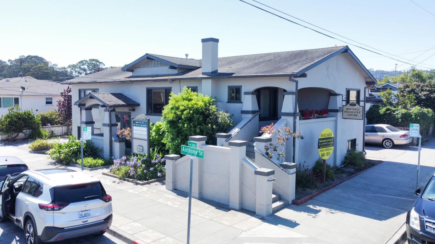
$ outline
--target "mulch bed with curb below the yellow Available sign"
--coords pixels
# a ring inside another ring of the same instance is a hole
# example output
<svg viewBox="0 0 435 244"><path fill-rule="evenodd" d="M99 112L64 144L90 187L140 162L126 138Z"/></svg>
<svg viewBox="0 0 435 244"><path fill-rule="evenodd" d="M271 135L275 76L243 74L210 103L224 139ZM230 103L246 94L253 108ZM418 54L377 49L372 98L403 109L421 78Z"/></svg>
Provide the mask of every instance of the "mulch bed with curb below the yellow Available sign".
<svg viewBox="0 0 435 244"><path fill-rule="evenodd" d="M384 162L380 160L367 160L367 161L368 163L361 168L355 168L351 165L346 165L344 167L336 169L335 180L326 180L325 183L321 183L321 177L318 177L319 182L315 189L296 188L296 199L293 200L291 203L295 205L303 204L306 201L310 200L311 198L314 198L320 195L321 193L328 191L329 189L334 188L335 186L340 185L341 183L351 178L354 178L355 176Z"/></svg>

